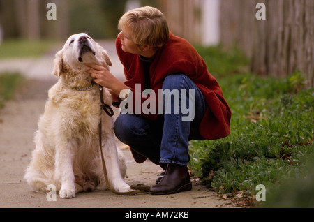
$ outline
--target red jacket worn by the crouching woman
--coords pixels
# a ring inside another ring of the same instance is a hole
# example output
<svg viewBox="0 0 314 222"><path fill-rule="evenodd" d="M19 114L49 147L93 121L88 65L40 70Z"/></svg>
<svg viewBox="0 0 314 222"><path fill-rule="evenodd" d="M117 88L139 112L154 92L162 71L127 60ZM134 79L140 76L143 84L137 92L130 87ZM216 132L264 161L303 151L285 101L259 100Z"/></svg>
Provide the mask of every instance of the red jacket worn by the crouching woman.
<svg viewBox="0 0 314 222"><path fill-rule="evenodd" d="M162 89L167 75L182 73L187 75L200 88L207 103L207 111L200 124L200 134L208 140L224 138L230 134L231 111L223 98L223 91L216 79L207 71L204 59L195 48L170 32L167 44L156 52L156 57L150 66L151 89L157 95ZM124 65L126 86L135 92L135 84L144 86L144 67L137 54L130 54L121 49L121 40L116 40L117 54ZM144 89L142 89L144 90ZM134 96L135 97L135 96ZM142 102L147 98L142 98ZM135 104L135 103L134 103ZM147 119L158 119L160 114L143 114Z"/></svg>

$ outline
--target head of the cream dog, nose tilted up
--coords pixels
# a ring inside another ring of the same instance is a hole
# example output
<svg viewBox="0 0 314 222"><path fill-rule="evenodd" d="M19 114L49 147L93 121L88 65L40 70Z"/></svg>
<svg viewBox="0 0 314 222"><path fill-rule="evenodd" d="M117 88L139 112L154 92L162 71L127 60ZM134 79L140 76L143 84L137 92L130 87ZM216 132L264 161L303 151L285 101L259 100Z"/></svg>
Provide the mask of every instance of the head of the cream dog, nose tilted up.
<svg viewBox="0 0 314 222"><path fill-rule="evenodd" d="M80 72L86 68L85 64L112 66L110 58L103 47L87 34L75 34L70 36L63 45L62 50L57 52L52 73L59 77L68 69Z"/></svg>

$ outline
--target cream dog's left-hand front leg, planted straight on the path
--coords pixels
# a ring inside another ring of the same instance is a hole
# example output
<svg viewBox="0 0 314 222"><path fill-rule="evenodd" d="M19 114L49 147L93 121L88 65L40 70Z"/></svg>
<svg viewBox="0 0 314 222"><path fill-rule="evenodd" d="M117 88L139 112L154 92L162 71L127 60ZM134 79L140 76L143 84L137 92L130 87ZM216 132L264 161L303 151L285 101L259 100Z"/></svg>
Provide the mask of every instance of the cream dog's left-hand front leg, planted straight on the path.
<svg viewBox="0 0 314 222"><path fill-rule="evenodd" d="M75 197L73 156L73 146L69 141L57 145L55 174L61 183L60 198Z"/></svg>

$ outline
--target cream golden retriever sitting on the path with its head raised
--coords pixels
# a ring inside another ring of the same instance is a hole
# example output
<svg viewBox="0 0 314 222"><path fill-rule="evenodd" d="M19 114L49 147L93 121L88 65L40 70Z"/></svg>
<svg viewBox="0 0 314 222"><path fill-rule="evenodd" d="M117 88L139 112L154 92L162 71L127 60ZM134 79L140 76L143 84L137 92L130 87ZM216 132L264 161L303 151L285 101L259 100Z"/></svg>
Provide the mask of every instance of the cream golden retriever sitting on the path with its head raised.
<svg viewBox="0 0 314 222"><path fill-rule="evenodd" d="M36 149L24 175L33 191L47 192L47 186L54 184L60 198L74 198L78 192L108 188L100 158L100 113L102 150L111 188L132 191L124 181L126 163L115 145L113 119L101 112L99 87L84 64L112 66L107 52L90 36L72 35L55 55L52 73L59 80L48 91L35 133ZM111 105L110 92L105 88L103 98Z"/></svg>

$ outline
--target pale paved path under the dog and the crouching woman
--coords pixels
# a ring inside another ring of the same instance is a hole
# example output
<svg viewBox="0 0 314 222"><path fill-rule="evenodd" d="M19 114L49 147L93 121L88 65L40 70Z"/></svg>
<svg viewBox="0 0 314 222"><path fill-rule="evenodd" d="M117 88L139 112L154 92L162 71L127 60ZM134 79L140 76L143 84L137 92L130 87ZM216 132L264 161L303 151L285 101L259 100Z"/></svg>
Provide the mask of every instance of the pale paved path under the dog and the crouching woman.
<svg viewBox="0 0 314 222"><path fill-rule="evenodd" d="M123 74L114 44L100 42L110 54L114 75L121 80ZM61 48L61 46L59 46ZM59 49L59 48L58 48ZM204 186L193 184L193 190L174 195L121 196L110 191L78 193L76 198L47 201L45 193L31 191L23 179L24 170L31 158L33 133L37 129L38 117L43 113L47 90L57 81L51 74L52 59L57 50L39 59L0 60L0 72L20 71L27 77L12 101L0 110L0 208L3 207L105 207L105 208L164 208L164 207L235 207L232 202L218 198L216 193ZM115 110L117 113L117 110ZM128 184L154 185L160 168L150 161L137 164L128 149L124 149L128 171Z"/></svg>

